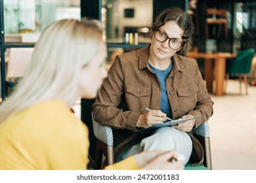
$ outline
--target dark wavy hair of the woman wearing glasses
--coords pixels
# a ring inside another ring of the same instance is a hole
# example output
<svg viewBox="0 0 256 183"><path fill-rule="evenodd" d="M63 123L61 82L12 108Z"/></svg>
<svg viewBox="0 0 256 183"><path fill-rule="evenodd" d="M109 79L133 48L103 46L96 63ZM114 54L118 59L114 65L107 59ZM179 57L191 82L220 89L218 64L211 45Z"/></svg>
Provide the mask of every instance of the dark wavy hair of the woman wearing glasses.
<svg viewBox="0 0 256 183"><path fill-rule="evenodd" d="M181 8L172 7L160 12L160 14L158 14L155 21L150 27L150 37L154 35L156 29L170 21L176 22L184 31L182 35L184 45L181 47L181 50L179 50L179 52L184 53L192 44L194 25L192 23L190 15L184 12L184 10L182 10Z"/></svg>

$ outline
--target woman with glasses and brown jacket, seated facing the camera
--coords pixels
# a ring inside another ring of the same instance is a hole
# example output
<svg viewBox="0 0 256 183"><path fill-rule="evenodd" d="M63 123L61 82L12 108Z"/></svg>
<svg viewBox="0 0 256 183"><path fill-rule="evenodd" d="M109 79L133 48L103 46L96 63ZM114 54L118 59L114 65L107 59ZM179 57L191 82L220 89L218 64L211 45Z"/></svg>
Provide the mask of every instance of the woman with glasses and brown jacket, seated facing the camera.
<svg viewBox="0 0 256 183"><path fill-rule="evenodd" d="M213 114L213 102L196 60L177 54L191 44L193 25L180 8L161 12L150 29L146 48L116 57L93 105L94 119L114 130L117 161L147 150L177 150L202 165L203 149L191 130ZM152 110L147 111L145 108ZM188 120L173 127L131 133L172 119Z"/></svg>

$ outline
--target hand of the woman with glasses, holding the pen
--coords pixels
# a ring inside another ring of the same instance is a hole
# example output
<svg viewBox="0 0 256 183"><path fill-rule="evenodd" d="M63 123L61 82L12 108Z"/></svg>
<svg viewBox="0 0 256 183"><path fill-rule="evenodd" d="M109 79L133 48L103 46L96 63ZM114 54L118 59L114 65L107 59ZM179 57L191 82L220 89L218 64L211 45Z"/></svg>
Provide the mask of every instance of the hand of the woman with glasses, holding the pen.
<svg viewBox="0 0 256 183"><path fill-rule="evenodd" d="M137 127L149 127L154 124L162 124L165 119L166 114L161 112L161 110L152 110L140 115L137 121Z"/></svg>

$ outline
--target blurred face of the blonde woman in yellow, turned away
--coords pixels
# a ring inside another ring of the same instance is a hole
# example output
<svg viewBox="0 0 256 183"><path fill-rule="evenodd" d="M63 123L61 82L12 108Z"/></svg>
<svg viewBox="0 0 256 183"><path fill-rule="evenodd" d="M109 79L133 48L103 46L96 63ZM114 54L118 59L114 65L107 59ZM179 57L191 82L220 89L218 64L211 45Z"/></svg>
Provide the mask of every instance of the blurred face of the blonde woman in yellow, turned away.
<svg viewBox="0 0 256 183"><path fill-rule="evenodd" d="M93 99L96 97L98 89L102 85L103 78L106 78L107 72L104 68L104 60L106 59L106 44L100 43L98 54L91 60L89 65L81 71L79 78L79 91L83 99Z"/></svg>

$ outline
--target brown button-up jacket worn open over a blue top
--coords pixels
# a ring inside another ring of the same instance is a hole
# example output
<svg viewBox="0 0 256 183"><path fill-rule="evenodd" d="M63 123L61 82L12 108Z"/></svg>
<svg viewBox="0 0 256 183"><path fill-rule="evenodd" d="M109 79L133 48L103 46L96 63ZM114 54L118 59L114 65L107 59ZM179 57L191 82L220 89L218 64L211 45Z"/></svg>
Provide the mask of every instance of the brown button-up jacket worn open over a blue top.
<svg viewBox="0 0 256 183"><path fill-rule="evenodd" d="M130 133L138 129L137 120L147 112L145 108L160 109L161 88L148 63L149 47L150 44L116 57L93 105L95 121L110 125L114 131L116 159L150 135L150 131ZM185 114L200 115L196 118L196 128L213 114L213 101L195 59L175 54L172 61L173 68L165 82L172 118L178 119ZM188 134L193 142L190 160L194 165L202 165L203 148L191 132Z"/></svg>

